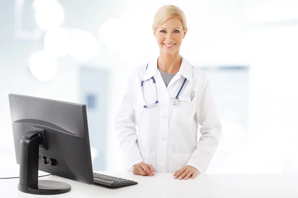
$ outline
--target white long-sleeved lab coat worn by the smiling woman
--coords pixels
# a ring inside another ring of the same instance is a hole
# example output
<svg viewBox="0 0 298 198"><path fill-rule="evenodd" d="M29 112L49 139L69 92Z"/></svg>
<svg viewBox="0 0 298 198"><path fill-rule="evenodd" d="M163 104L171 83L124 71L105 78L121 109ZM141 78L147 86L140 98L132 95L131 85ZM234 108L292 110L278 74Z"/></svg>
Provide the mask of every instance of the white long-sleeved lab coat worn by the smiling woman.
<svg viewBox="0 0 298 198"><path fill-rule="evenodd" d="M117 141L124 157L127 171L143 161L152 164L155 172L175 172L183 166L194 166L205 173L219 145L222 125L212 99L206 73L182 59L179 72L168 87L157 69L157 58L135 68L128 80L128 87L115 119ZM148 103L158 103L144 108L141 81L144 80L144 95ZM187 79L178 105L170 102L176 97ZM138 134L137 134L137 128ZM198 127L201 137L198 140Z"/></svg>

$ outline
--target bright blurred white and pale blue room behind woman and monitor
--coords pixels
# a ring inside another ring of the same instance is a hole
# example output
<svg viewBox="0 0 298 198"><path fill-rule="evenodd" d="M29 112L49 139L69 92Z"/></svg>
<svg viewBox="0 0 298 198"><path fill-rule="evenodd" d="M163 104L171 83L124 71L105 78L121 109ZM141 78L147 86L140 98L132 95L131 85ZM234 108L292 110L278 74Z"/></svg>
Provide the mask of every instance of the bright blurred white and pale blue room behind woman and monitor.
<svg viewBox="0 0 298 198"><path fill-rule="evenodd" d="M298 173L297 0L0 0L1 170L18 168L10 93L86 104L93 170L124 169L114 117L128 73L158 56L164 4L186 14L180 54L223 124L207 173Z"/></svg>

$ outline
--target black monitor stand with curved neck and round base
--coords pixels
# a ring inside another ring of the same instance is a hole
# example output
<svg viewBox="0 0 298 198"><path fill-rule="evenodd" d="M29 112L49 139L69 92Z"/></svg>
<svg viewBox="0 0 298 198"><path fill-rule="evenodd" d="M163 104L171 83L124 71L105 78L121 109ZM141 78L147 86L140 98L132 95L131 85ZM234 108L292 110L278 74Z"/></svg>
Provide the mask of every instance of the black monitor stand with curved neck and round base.
<svg viewBox="0 0 298 198"><path fill-rule="evenodd" d="M69 192L72 187L67 183L38 180L39 145L43 145L44 149L47 149L47 144L43 129L32 127L31 130L22 137L20 142L18 190L36 195L57 195Z"/></svg>

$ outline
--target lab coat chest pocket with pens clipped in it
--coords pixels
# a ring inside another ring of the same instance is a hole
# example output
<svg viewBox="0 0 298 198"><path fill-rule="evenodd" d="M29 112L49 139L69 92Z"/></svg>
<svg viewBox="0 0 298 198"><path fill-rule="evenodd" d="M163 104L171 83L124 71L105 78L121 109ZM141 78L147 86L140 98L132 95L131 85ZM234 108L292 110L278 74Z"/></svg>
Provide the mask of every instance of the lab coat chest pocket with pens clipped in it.
<svg viewBox="0 0 298 198"><path fill-rule="evenodd" d="M173 116L182 122L188 122L192 115L195 114L196 98L192 101L180 101L179 104L173 105Z"/></svg>

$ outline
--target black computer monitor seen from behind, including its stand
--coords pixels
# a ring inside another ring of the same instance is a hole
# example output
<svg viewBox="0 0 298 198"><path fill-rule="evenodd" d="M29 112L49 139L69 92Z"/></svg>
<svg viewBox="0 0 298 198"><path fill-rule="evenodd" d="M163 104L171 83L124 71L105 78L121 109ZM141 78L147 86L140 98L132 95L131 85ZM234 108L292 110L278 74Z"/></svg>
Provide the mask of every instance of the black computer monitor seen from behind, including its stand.
<svg viewBox="0 0 298 198"><path fill-rule="evenodd" d="M9 94L18 189L54 195L69 192L67 183L38 180L38 170L93 184L86 105Z"/></svg>

